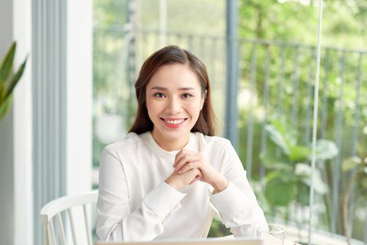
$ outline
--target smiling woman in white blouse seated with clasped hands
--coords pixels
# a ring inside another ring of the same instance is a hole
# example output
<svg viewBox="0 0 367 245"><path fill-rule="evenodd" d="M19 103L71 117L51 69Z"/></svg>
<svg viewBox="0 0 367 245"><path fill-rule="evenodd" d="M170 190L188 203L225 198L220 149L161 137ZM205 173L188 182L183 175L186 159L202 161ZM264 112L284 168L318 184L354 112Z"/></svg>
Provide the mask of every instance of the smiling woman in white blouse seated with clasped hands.
<svg viewBox="0 0 367 245"><path fill-rule="evenodd" d="M145 61L135 87L134 125L101 155L99 238L207 237L215 211L237 237L267 227L236 151L214 137L204 64L168 46Z"/></svg>

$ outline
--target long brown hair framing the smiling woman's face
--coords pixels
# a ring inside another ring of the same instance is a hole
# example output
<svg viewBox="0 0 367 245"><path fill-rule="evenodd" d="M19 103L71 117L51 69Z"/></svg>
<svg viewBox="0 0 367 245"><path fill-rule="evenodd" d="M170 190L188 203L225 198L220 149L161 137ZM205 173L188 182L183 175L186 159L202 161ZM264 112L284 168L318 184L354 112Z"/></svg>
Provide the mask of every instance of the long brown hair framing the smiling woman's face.
<svg viewBox="0 0 367 245"><path fill-rule="evenodd" d="M144 132L153 130L153 123L150 120L147 107L145 106L145 90L150 78L157 72L160 66L166 64L186 64L189 66L196 76L199 78L201 84L201 93L204 100L203 109L201 109L199 118L196 121L191 132L201 132L203 134L213 136L216 132L216 118L213 112L212 103L210 102L210 83L206 66L191 52L179 48L178 46L170 45L161 48L150 55L145 60L138 79L135 83L136 98L138 99L138 110L134 124L131 126L129 132L136 134L143 134Z"/></svg>

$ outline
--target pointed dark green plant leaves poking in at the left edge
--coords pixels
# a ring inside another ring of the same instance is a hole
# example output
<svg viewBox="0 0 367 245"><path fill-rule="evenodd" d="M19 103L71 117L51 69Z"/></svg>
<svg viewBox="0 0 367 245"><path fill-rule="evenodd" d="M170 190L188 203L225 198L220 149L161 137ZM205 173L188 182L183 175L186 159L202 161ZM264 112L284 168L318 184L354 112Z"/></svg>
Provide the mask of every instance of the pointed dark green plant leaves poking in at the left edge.
<svg viewBox="0 0 367 245"><path fill-rule="evenodd" d="M6 115L10 109L11 103L13 101L13 90L17 82L22 77L25 65L27 63L27 58L20 68L13 73L13 62L15 57L15 50L17 48L17 43L13 42L6 52L6 55L1 60L0 64L0 120Z"/></svg>

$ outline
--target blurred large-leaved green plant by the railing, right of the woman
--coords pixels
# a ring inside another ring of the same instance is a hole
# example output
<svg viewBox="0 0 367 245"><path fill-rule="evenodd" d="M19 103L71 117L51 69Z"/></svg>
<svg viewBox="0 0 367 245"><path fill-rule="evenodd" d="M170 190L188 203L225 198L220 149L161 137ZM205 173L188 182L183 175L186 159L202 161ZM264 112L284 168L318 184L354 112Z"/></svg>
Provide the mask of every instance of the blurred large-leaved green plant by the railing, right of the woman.
<svg viewBox="0 0 367 245"><path fill-rule="evenodd" d="M266 151L261 152L260 156L268 169L265 185L266 199L273 206L287 207L294 200L308 205L308 195L305 194L312 184L312 169L305 162L310 162L312 156L310 146L297 144L294 127L284 119L271 120L271 123L266 125L266 132L271 139L271 144ZM316 159L318 160L334 158L338 153L332 141L318 140L317 146L319 151L316 151ZM315 169L313 181L315 193L319 195L327 193L328 188L322 181L318 169Z"/></svg>

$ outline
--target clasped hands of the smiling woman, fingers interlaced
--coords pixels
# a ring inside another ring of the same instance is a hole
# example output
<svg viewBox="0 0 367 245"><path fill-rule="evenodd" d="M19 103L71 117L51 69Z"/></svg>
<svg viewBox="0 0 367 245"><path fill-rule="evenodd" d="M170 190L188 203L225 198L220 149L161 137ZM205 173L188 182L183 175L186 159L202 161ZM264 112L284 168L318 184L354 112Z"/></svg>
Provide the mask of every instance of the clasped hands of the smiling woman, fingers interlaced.
<svg viewBox="0 0 367 245"><path fill-rule="evenodd" d="M209 183L214 193L219 193L228 186L228 181L218 173L200 152L182 149L175 156L173 173L166 179L166 183L176 190L180 190L196 181Z"/></svg>

